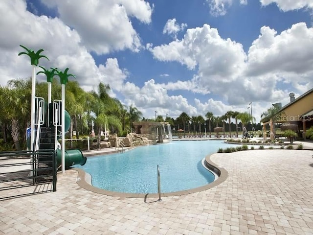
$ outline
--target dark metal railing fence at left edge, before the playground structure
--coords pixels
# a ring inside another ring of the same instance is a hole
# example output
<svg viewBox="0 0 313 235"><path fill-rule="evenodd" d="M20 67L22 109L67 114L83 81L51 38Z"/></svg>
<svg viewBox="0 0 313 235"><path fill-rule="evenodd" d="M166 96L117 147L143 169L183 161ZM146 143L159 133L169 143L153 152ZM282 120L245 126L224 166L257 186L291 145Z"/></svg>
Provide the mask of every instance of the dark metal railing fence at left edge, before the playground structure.
<svg viewBox="0 0 313 235"><path fill-rule="evenodd" d="M0 200L56 191L56 182L54 150L0 152Z"/></svg>

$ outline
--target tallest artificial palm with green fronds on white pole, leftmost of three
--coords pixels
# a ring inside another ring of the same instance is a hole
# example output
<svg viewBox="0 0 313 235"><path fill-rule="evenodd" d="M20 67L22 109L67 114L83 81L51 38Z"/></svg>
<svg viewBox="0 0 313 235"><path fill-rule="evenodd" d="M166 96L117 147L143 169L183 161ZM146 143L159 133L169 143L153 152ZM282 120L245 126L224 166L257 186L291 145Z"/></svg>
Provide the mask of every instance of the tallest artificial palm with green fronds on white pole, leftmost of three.
<svg viewBox="0 0 313 235"><path fill-rule="evenodd" d="M41 55L40 53L44 51L44 49L39 49L36 53L28 49L27 47L24 47L20 45L20 47L24 48L26 51L22 51L19 53L20 55L27 55L30 58L30 64L33 67L32 70L32 76L31 76L31 120L30 120L30 150L34 151L34 142L35 142L35 92L36 92L36 67L39 64L40 58L46 58L49 60L45 55Z"/></svg>

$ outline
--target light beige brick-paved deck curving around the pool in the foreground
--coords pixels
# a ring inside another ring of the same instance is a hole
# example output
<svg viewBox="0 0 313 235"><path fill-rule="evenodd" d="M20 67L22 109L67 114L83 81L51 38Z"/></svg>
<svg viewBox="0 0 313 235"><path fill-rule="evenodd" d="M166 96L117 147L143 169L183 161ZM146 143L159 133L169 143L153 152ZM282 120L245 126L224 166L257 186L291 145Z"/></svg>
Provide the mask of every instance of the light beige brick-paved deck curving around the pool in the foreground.
<svg viewBox="0 0 313 235"><path fill-rule="evenodd" d="M0 234L313 235L313 151L214 154L229 176L188 195L111 197L80 188L77 171L57 192L0 201Z"/></svg>

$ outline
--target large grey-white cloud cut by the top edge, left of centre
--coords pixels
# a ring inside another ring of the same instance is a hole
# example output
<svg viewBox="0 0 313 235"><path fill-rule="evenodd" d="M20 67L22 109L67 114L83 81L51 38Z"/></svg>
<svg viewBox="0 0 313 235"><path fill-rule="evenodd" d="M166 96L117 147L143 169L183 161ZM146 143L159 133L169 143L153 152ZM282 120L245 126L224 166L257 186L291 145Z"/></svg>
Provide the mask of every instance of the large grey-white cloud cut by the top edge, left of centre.
<svg viewBox="0 0 313 235"><path fill-rule="evenodd" d="M141 48L140 37L130 17L140 22L151 22L152 7L143 0L44 1L56 7L59 18L75 28L88 50L106 54L114 50Z"/></svg>

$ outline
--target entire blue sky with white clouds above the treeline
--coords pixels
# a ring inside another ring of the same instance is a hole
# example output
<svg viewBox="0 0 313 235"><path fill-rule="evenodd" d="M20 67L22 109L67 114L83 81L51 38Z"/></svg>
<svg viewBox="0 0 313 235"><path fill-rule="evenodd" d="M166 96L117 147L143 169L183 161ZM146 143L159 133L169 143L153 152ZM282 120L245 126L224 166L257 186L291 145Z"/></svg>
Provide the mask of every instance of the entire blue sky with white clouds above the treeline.
<svg viewBox="0 0 313 235"><path fill-rule="evenodd" d="M145 118L229 110L260 115L313 87L313 0L3 0L0 85L45 67L99 82ZM13 30L12 30L13 29ZM38 80L44 80L38 76Z"/></svg>

